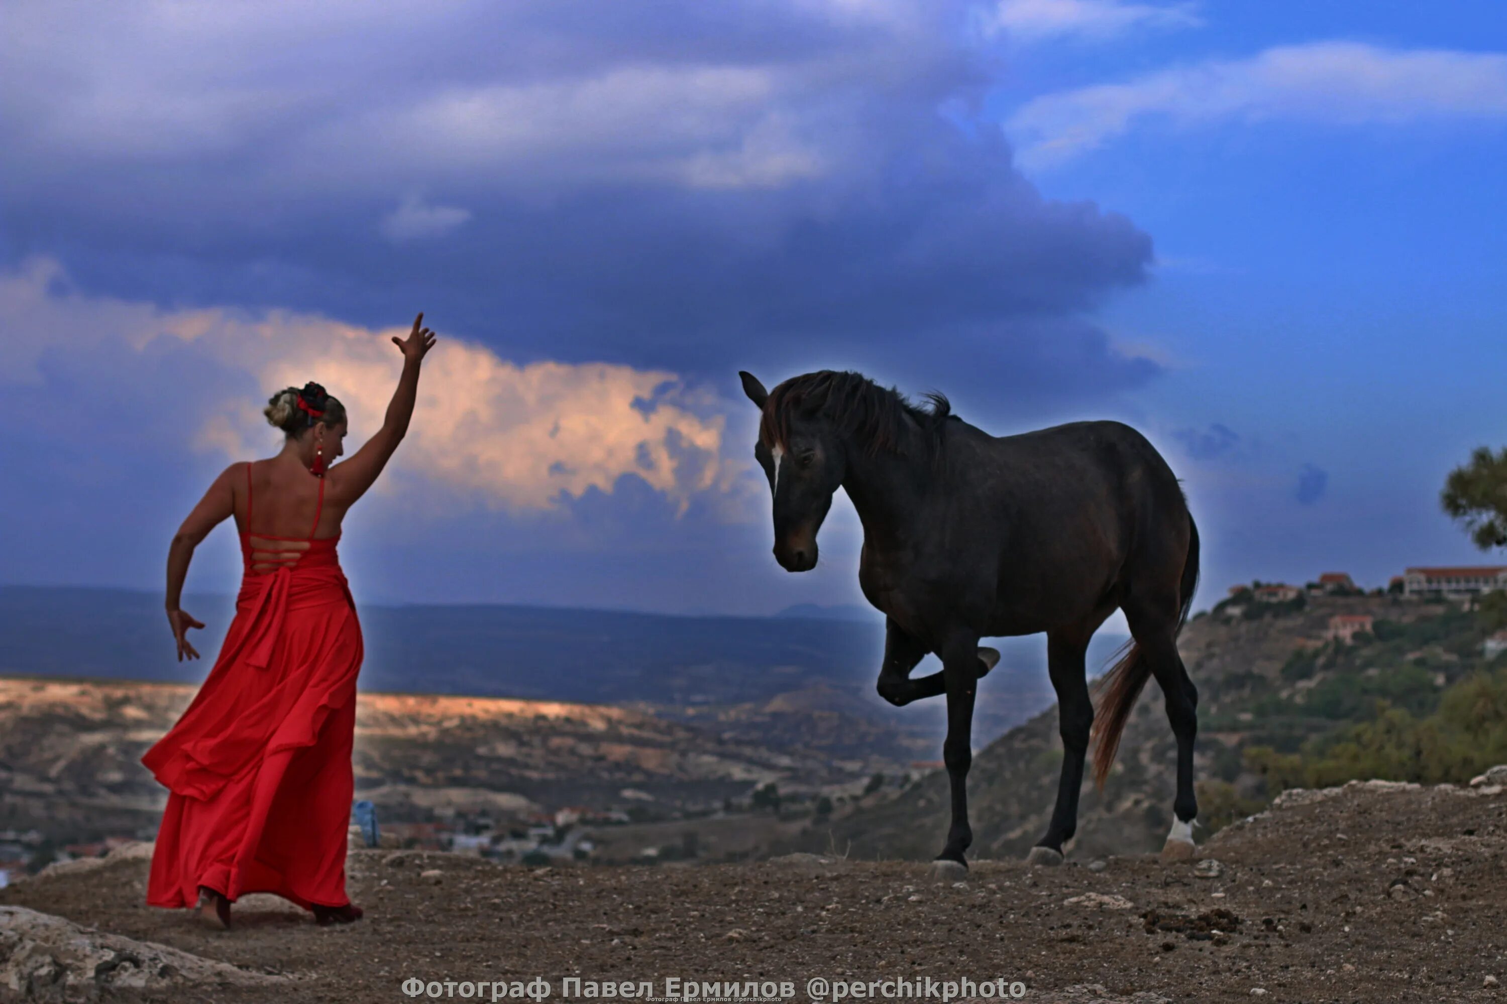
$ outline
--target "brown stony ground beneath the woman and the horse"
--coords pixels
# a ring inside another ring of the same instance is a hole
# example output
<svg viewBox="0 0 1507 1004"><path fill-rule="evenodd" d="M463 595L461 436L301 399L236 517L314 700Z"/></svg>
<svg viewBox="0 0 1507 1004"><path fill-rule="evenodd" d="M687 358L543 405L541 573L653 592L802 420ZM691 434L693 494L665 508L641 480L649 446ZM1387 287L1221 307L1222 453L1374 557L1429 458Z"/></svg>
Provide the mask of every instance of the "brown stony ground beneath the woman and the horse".
<svg viewBox="0 0 1507 1004"><path fill-rule="evenodd" d="M125 852L0 890L0 998L429 999L404 993L417 978L458 981L442 999L460 999L464 981L538 977L559 1001L567 977L657 989L681 977L793 981L805 1001L812 977L1005 977L1025 999L1058 1004L1507 999L1507 789L1495 775L1288 792L1192 863L977 861L963 884L916 863L815 855L527 870L360 850L350 887L368 918L344 929L249 897L234 930L211 932L142 905L146 864ZM109 936L157 947L112 948ZM163 947L202 965L164 962Z"/></svg>

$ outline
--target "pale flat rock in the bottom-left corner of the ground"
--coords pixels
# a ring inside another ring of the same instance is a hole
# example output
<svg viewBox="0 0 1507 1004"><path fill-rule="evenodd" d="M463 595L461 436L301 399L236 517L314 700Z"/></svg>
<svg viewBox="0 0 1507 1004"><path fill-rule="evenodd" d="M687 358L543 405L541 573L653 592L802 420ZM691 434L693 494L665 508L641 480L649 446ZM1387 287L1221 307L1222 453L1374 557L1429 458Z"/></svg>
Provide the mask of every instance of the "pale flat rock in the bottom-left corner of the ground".
<svg viewBox="0 0 1507 1004"><path fill-rule="evenodd" d="M270 987L285 980L23 906L0 906L0 990L20 999L96 1001L118 990Z"/></svg>

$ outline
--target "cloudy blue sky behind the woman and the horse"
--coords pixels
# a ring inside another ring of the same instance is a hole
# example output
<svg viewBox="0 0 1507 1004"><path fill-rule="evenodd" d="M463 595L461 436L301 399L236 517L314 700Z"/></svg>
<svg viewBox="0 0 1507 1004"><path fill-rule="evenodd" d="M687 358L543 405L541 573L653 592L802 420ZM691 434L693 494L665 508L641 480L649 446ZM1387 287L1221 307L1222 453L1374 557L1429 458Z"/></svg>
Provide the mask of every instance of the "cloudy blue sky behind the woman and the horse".
<svg viewBox="0 0 1507 1004"><path fill-rule="evenodd" d="M862 602L842 498L775 564L740 369L1136 426L1198 607L1501 560L1438 504L1507 440L1495 2L5 6L0 583L160 589L267 397L354 447L419 310L362 601Z"/></svg>

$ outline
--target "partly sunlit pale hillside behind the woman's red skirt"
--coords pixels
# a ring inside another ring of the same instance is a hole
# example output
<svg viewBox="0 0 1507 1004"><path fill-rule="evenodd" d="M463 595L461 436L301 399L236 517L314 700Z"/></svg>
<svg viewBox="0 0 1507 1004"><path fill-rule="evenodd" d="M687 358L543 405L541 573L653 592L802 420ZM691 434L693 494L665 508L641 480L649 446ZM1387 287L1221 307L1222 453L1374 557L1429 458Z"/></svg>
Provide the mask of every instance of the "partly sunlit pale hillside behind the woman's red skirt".
<svg viewBox="0 0 1507 1004"><path fill-rule="evenodd" d="M140 757L193 692L0 676L0 831L38 829L62 843L151 837L166 792ZM835 732L845 738L864 721L854 715ZM663 816L710 811L764 781L812 790L897 766L885 757L894 736L877 727L841 759L791 732L787 723L784 733L743 739L609 704L366 692L356 707L356 786L387 820L434 810L518 820L538 808L645 801Z"/></svg>

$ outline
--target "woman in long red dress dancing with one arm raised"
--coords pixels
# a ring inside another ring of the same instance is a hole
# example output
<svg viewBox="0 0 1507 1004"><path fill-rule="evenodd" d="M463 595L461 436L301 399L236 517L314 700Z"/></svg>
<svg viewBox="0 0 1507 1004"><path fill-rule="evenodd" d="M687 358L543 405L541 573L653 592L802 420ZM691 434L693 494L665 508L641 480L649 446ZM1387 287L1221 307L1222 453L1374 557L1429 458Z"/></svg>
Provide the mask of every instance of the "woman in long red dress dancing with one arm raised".
<svg viewBox="0 0 1507 1004"><path fill-rule="evenodd" d="M344 464L345 408L318 384L279 391L267 420L288 440L232 464L167 552L167 623L178 659L203 628L179 605L194 546L235 518L244 577L220 658L178 724L142 762L169 789L146 902L196 906L219 927L247 893L276 893L321 924L359 920L345 894L362 629L335 554L345 512L408 431L419 366L434 345L420 313L381 429Z"/></svg>

